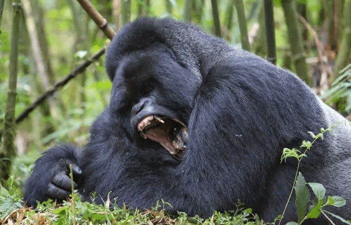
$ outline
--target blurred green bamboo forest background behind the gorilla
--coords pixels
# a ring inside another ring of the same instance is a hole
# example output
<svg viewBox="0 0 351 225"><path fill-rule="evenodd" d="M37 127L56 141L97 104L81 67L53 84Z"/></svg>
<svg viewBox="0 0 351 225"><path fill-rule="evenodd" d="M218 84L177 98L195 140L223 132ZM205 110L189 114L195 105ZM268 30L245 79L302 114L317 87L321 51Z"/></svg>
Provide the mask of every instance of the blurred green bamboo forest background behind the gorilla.
<svg viewBox="0 0 351 225"><path fill-rule="evenodd" d="M12 4L16 2L21 5ZM273 14L264 2L273 2ZM350 66L342 73L338 71L350 62L351 0L91 0L91 3L115 31L138 16L173 17L196 23L234 47L250 50L272 62L275 56L271 53L276 52L278 66L294 71L340 113L350 114ZM17 118L38 96L106 46L109 38L76 0L0 0L0 8L3 9L0 129L4 134L9 77L13 75L9 70L13 65L11 40L18 38ZM266 25L265 18L272 15L273 26ZM17 21L19 33L14 37L11 28ZM91 123L109 102L110 87L101 56L18 121L16 132L12 132L16 133L14 149L18 156L12 158L4 147L5 141L0 146L0 163L13 161L11 172L5 172L3 167L3 178L7 177L4 173L9 173L21 186L31 164L52 144L84 145Z"/></svg>

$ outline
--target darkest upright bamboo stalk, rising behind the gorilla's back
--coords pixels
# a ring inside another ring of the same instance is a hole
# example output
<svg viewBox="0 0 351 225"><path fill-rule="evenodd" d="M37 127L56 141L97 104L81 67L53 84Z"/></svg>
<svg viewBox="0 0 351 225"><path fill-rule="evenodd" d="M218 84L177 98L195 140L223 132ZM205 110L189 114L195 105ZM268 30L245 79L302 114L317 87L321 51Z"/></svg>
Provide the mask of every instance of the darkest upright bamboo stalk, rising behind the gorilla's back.
<svg viewBox="0 0 351 225"><path fill-rule="evenodd" d="M274 14L273 1L264 0L266 40L267 40L267 60L276 63L275 31L274 31Z"/></svg>

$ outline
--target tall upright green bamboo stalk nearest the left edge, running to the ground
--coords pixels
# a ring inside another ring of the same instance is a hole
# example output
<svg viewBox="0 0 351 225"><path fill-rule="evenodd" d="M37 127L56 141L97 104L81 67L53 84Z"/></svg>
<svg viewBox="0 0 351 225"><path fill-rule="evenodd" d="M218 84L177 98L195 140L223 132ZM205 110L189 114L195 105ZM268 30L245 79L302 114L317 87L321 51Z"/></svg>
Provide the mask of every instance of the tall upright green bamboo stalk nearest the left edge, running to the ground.
<svg viewBox="0 0 351 225"><path fill-rule="evenodd" d="M17 95L17 64L18 64L18 39L20 33L21 0L13 0L13 18L10 43L9 86L4 119L3 148L0 152L0 180L9 178L11 161L16 155L15 140L15 106Z"/></svg>

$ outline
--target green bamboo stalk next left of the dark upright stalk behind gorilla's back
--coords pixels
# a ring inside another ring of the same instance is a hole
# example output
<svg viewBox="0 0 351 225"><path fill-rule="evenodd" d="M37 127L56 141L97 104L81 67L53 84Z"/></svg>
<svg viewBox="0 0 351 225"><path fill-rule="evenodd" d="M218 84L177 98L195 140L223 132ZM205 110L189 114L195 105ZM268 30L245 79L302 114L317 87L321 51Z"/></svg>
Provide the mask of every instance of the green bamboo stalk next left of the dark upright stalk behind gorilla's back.
<svg viewBox="0 0 351 225"><path fill-rule="evenodd" d="M247 34L246 17L243 0L235 0L235 7L237 9L239 29L240 29L240 40L243 49L250 51L249 35Z"/></svg>

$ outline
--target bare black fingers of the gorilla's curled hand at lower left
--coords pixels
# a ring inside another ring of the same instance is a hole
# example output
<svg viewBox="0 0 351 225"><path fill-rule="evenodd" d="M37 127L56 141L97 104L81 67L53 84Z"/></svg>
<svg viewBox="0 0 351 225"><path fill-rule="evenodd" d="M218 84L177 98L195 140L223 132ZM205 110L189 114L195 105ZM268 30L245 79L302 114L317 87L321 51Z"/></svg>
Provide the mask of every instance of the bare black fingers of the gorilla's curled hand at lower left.
<svg viewBox="0 0 351 225"><path fill-rule="evenodd" d="M73 180L70 178L70 164L72 164ZM59 165L57 166L56 174L51 179L46 195L52 199L63 200L71 193L72 183L74 189L78 187L77 183L80 183L82 179L82 170L78 165L73 163L69 159L61 158Z"/></svg>

